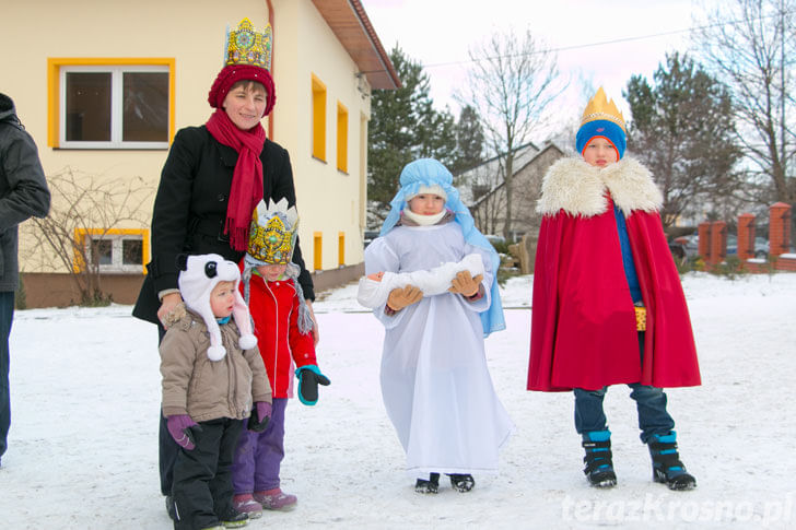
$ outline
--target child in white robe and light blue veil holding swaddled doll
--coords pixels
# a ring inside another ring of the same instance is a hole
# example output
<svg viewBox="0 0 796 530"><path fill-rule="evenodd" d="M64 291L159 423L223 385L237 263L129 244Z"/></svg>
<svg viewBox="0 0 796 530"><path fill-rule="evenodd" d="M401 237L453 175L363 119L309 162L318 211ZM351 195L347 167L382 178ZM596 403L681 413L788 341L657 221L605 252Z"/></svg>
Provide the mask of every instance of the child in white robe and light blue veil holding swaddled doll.
<svg viewBox="0 0 796 530"><path fill-rule="evenodd" d="M494 282L499 258L452 181L435 160L408 164L381 235L365 249L366 274L428 271L473 252L482 260L483 274L458 272L443 294L423 297L410 284L374 309L386 328L384 404L419 493L437 493L440 473L469 492L473 473L496 472L497 450L513 431L483 345L505 328Z"/></svg>

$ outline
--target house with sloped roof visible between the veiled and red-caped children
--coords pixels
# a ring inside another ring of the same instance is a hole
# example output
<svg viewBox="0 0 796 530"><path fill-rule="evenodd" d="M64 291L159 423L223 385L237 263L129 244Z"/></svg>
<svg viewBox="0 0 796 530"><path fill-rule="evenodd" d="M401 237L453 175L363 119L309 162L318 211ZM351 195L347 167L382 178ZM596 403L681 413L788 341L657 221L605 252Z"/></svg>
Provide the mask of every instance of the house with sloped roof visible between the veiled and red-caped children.
<svg viewBox="0 0 796 530"><path fill-rule="evenodd" d="M542 148L520 145L514 154L512 178L512 240L539 229L536 202L548 167L564 155L555 143ZM463 202L467 204L483 234L501 235L505 224L505 154L501 154L457 176Z"/></svg>

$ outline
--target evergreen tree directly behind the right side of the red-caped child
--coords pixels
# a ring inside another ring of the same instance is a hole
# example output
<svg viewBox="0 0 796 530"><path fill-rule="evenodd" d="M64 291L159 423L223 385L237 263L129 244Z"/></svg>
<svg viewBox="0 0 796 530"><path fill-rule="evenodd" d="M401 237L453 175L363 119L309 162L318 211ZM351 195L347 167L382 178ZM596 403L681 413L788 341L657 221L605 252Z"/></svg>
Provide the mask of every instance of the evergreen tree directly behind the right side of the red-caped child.
<svg viewBox="0 0 796 530"><path fill-rule="evenodd" d="M727 89L687 55L666 56L653 74L628 82L633 120L628 149L653 173L670 226L695 204L718 209L740 187L733 104Z"/></svg>

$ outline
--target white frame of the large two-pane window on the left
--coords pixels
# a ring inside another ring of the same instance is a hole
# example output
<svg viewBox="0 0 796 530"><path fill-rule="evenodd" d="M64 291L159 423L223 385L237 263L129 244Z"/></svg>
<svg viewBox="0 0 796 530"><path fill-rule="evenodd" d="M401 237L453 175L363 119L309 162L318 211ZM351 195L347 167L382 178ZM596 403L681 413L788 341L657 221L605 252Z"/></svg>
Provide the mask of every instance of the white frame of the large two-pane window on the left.
<svg viewBox="0 0 796 530"><path fill-rule="evenodd" d="M110 73L110 141L109 142L81 142L67 141L67 73L70 72L101 72ZM59 131L58 145L62 149L168 149L168 141L164 142L130 142L122 141L122 104L121 97L124 74L128 72L162 72L169 74L168 66L69 66L59 69ZM171 94L169 94L171 97ZM168 102L166 113L172 102ZM166 128L168 137L168 128Z"/></svg>

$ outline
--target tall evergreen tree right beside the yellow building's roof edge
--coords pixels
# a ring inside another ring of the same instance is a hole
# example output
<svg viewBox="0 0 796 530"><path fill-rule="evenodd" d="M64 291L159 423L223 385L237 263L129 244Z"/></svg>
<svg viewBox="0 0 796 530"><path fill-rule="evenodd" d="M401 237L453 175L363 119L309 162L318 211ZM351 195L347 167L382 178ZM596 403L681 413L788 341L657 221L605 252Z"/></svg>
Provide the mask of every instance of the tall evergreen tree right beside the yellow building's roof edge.
<svg viewBox="0 0 796 530"><path fill-rule="evenodd" d="M384 220L400 187L400 172L419 157L433 157L450 167L456 155L455 120L434 109L423 67L396 46L390 61L402 86L374 90L367 144L368 214Z"/></svg>

